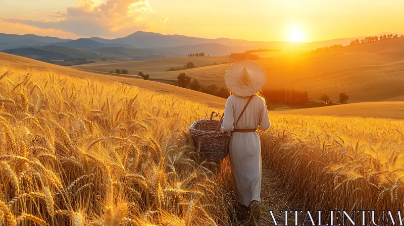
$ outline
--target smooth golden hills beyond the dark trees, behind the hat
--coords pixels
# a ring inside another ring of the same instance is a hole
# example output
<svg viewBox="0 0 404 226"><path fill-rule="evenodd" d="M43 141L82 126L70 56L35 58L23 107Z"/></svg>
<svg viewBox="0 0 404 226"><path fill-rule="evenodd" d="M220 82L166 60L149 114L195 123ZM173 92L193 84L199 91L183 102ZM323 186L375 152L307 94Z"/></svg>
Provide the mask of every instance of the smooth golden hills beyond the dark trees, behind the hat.
<svg viewBox="0 0 404 226"><path fill-rule="evenodd" d="M255 62L266 71L268 88L307 90L310 97L314 99L326 93L334 101L337 101L340 92L350 95L350 102L404 100L404 90L401 89L404 84L403 50L404 38L394 38L313 54L270 52L261 54L266 59ZM164 72L164 69L176 66L176 61L178 61L177 65L181 66L188 59L172 58L172 62L167 64L161 64L165 60L159 59L123 63L119 66L129 67L131 64L136 64L133 69L149 71L151 79L176 80L178 72ZM195 58L192 58L192 61L195 61ZM224 60L218 59L218 61ZM156 67L155 64L159 66ZM214 83L225 86L223 75L229 66L230 64L216 65L182 72L198 79L204 85ZM105 70L99 69L102 68L101 66L78 67Z"/></svg>

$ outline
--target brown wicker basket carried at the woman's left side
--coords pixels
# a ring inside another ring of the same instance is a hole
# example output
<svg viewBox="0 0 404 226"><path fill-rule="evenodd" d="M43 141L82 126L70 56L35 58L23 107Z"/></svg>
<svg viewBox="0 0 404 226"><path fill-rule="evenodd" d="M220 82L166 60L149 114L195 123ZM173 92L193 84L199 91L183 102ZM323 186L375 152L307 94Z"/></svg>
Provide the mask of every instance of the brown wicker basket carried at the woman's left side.
<svg viewBox="0 0 404 226"><path fill-rule="evenodd" d="M192 141L195 147L200 147L200 153L205 155L207 159L218 160L225 158L229 152L231 132L221 133L220 120L212 119L213 114L218 116L215 111L212 112L211 119L198 120L189 127Z"/></svg>

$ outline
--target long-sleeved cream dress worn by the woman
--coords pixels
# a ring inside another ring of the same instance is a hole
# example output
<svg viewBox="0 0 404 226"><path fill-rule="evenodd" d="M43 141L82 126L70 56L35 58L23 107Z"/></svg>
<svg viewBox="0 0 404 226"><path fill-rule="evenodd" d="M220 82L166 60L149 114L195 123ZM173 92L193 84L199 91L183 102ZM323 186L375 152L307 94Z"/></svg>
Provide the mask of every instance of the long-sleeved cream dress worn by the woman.
<svg viewBox="0 0 404 226"><path fill-rule="evenodd" d="M267 130L271 123L265 100L252 97L243 115L241 114L249 97L229 96L224 108L222 132L233 129ZM235 127L234 127L235 126ZM233 132L230 140L229 157L231 173L235 182L235 195L239 202L248 206L251 201L261 201L261 143L257 132Z"/></svg>

